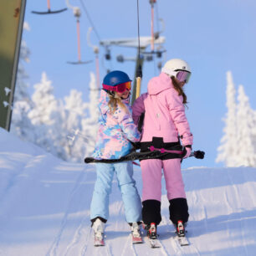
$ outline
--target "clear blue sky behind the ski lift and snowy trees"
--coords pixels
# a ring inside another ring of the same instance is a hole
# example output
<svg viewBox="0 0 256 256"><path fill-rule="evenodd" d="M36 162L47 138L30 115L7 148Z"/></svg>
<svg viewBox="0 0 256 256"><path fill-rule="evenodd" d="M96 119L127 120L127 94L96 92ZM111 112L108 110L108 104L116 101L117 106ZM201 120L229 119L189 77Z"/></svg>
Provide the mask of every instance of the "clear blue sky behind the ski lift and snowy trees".
<svg viewBox="0 0 256 256"><path fill-rule="evenodd" d="M137 36L136 0L82 0L95 23L101 39L133 38ZM79 0L69 0L81 8L81 56L82 60L95 59L93 50L86 41L90 22ZM65 0L52 0L53 10L64 8ZM189 159L188 166L223 166L215 163L217 147L223 136L223 117L227 111L226 72L231 70L236 86L243 84L250 104L256 109L255 59L256 59L256 3L253 0L183 0L157 1L158 17L163 18L166 38L166 60L185 59L192 68L192 78L187 84L189 101L187 118L194 135L193 149L206 151L204 161ZM25 21L31 30L23 33L31 51L30 63L26 64L30 90L38 83L42 71L53 81L57 98L69 95L69 90L83 91L87 100L90 71L95 72L95 63L70 65L77 60L76 24L72 11L52 15L36 15L31 11L47 10L47 1L27 0ZM160 24L161 25L161 24ZM161 27L161 26L160 26ZM155 24L156 28L156 24ZM151 6L148 0L140 0L141 36L151 34ZM91 33L92 44L99 44ZM120 64L118 54L135 56L136 49L112 47L112 61L104 61L105 49L100 48L100 77L106 68L121 69L133 78L135 63ZM156 64L146 62L143 67L142 92L151 77L158 74ZM104 64L104 65L103 65Z"/></svg>

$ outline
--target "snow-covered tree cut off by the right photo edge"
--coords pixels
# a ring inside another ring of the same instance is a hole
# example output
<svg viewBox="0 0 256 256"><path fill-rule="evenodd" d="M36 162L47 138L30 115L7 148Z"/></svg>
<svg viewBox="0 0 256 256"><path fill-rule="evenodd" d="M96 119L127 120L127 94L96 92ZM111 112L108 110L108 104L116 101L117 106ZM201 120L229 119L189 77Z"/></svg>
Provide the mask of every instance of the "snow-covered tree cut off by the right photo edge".
<svg viewBox="0 0 256 256"><path fill-rule="evenodd" d="M245 95L243 85L238 88L238 154L239 166L256 166L256 124L255 113L249 105L248 96Z"/></svg>

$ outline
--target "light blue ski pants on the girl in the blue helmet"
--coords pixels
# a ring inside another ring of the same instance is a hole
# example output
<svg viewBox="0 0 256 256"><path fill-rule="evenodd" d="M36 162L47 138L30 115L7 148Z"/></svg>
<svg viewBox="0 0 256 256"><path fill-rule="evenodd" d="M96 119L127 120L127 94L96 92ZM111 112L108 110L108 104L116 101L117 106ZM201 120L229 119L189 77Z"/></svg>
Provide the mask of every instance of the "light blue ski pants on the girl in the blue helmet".
<svg viewBox="0 0 256 256"><path fill-rule="evenodd" d="M96 163L95 166L97 179L90 204L90 219L101 217L107 220L109 218L109 197L114 173L116 173L127 223L141 221L141 197L136 189L136 182L132 178L131 161L113 164Z"/></svg>

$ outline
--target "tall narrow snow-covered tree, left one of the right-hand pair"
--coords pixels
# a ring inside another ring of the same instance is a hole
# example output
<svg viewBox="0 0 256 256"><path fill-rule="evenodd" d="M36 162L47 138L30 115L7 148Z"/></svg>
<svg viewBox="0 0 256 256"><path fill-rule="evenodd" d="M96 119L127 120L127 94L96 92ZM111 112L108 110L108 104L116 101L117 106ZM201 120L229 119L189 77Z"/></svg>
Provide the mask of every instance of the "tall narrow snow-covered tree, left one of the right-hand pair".
<svg viewBox="0 0 256 256"><path fill-rule="evenodd" d="M227 108L228 113L224 119L224 135L221 139L221 146L218 147L217 162L224 161L226 166L237 166L237 104L236 90L233 84L233 77L230 71L227 72Z"/></svg>

